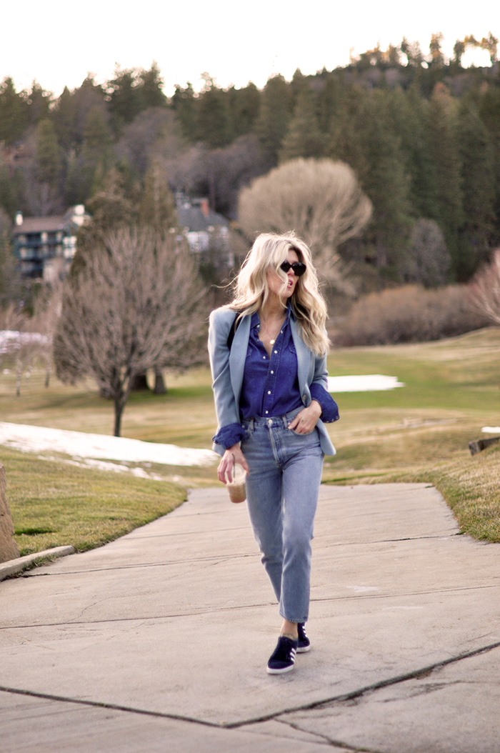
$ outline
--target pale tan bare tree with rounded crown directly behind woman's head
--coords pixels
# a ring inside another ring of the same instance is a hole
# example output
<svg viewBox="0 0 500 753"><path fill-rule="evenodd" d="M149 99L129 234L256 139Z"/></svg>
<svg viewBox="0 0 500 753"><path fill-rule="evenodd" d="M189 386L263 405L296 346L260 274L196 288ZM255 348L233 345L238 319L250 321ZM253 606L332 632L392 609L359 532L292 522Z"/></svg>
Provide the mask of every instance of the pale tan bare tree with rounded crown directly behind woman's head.
<svg viewBox="0 0 500 753"><path fill-rule="evenodd" d="M371 215L371 202L355 173L334 160L291 160L257 178L239 194L239 224L245 233L295 230L313 249L322 274L342 284L337 247L357 235Z"/></svg>

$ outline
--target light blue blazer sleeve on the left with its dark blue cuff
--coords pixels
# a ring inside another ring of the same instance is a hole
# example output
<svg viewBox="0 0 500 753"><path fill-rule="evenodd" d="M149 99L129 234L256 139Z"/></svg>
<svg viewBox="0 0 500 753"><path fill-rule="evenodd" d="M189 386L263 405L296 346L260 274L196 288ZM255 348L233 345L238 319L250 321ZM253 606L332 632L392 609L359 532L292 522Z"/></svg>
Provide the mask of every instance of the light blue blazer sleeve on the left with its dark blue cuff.
<svg viewBox="0 0 500 753"><path fill-rule="evenodd" d="M224 447L224 450L245 437L231 384L230 350L227 347L227 337L235 316L236 313L230 309L215 309L210 314L209 326L210 368L218 424L213 441Z"/></svg>

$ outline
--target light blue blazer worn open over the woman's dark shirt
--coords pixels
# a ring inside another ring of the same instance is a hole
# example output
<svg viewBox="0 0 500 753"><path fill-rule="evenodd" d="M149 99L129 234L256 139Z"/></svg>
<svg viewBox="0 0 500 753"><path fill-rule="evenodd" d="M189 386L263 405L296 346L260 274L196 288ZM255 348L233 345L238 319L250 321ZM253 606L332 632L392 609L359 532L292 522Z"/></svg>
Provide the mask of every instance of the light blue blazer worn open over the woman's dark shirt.
<svg viewBox="0 0 500 753"><path fill-rule="evenodd" d="M234 334L231 349L227 347L227 337L233 324L236 312L231 309L215 309L210 314L209 328L209 355L212 368L212 389L215 397L215 412L217 413L218 427L232 423L240 423L239 397L243 383L243 370L245 368L248 337L250 337L251 316L244 316ZM308 406L312 400L309 387L318 383L327 389L328 371L326 368L326 355L315 355L306 346L299 334L294 316L290 316L291 334L297 352L298 381L300 395L304 406ZM331 444L325 424L319 419L316 424L319 431L321 447L325 455L335 455L335 448ZM219 455L224 455L224 448L220 444L213 444L213 449Z"/></svg>

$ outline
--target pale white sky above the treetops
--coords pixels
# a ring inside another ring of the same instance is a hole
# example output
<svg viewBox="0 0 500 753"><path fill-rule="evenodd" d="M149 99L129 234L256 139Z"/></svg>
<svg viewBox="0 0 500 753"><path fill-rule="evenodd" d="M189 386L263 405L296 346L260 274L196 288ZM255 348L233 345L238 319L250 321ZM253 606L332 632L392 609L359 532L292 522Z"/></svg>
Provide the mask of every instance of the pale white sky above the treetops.
<svg viewBox="0 0 500 753"><path fill-rule="evenodd" d="M444 34L451 56L457 38L492 32L500 37L500 2L450 0L6 0L2 7L0 80L17 88L35 78L56 95L78 87L87 72L102 83L115 63L148 69L156 60L165 93L187 81L199 90L209 72L219 86L260 88L274 73L313 74L345 66L349 50L362 53L380 42L419 41L424 54L433 32ZM464 62L489 65L481 50Z"/></svg>

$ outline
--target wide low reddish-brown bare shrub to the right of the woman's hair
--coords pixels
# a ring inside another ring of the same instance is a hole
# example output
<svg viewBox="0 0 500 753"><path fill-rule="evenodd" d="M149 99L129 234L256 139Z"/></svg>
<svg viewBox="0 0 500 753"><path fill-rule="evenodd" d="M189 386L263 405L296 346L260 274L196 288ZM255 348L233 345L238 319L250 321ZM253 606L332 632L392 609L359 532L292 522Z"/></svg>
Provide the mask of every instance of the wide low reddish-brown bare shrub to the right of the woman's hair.
<svg viewBox="0 0 500 753"><path fill-rule="evenodd" d="M404 285L357 300L334 335L339 346L422 343L488 325L466 285L425 290Z"/></svg>

